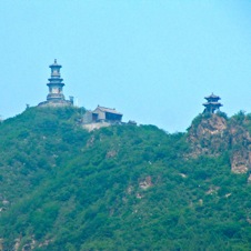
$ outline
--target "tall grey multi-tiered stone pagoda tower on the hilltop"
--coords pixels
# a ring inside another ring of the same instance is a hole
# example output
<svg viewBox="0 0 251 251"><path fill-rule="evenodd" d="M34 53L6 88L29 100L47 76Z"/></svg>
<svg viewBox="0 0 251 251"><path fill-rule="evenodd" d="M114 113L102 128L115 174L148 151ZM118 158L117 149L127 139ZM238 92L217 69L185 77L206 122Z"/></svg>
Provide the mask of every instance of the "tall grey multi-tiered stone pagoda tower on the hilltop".
<svg viewBox="0 0 251 251"><path fill-rule="evenodd" d="M62 82L63 79L60 74L60 69L62 66L58 64L57 59L54 60L54 63L50 66L51 69L51 77L49 80L49 83L47 86L49 87L49 93L47 96L47 101L39 103L38 106L49 106L49 107L66 107L66 106L72 106L73 104L73 98L71 97L70 100L66 100L63 96L63 86Z"/></svg>

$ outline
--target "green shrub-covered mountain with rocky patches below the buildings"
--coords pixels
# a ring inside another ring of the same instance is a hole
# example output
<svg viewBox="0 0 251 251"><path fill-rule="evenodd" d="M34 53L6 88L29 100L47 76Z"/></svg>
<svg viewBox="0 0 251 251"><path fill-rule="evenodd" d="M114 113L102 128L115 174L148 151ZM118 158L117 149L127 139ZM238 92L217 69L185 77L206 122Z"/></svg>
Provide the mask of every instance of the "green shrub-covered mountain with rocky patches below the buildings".
<svg viewBox="0 0 251 251"><path fill-rule="evenodd" d="M251 250L251 116L91 132L77 108L0 124L0 250Z"/></svg>

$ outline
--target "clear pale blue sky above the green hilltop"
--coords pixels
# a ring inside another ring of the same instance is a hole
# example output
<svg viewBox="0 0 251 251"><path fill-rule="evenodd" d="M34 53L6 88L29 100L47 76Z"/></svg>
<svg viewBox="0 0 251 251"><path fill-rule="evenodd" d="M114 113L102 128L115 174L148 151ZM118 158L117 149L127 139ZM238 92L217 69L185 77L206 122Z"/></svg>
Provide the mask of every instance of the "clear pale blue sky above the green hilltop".
<svg viewBox="0 0 251 251"><path fill-rule="evenodd" d="M123 121L185 131L218 94L251 112L250 0L0 0L0 116L44 101L49 64L63 93Z"/></svg>

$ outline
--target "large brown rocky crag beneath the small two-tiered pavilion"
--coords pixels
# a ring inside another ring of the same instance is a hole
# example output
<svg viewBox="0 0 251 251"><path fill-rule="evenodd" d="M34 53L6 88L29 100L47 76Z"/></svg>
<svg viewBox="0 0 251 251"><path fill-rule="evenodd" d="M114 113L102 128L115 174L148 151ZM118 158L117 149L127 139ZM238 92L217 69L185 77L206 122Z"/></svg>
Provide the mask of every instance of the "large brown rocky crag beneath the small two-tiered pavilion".
<svg viewBox="0 0 251 251"><path fill-rule="evenodd" d="M229 152L231 171L247 173L251 168L251 137L247 129L251 121L232 118L230 122L218 114L199 116L189 128L190 157L220 155Z"/></svg>

